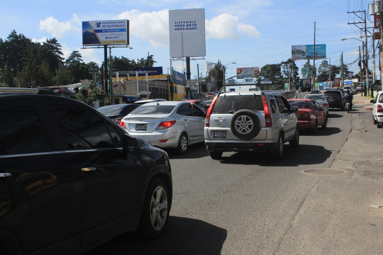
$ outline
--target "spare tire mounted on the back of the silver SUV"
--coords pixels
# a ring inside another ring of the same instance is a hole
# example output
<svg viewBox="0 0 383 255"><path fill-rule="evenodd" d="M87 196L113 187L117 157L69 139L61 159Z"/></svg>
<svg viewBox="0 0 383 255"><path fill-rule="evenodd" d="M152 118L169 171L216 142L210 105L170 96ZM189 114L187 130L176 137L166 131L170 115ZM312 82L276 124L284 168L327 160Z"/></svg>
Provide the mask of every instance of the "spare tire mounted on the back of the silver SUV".
<svg viewBox="0 0 383 255"><path fill-rule="evenodd" d="M234 136L239 139L252 139L260 131L259 118L253 111L239 110L231 118L230 129Z"/></svg>

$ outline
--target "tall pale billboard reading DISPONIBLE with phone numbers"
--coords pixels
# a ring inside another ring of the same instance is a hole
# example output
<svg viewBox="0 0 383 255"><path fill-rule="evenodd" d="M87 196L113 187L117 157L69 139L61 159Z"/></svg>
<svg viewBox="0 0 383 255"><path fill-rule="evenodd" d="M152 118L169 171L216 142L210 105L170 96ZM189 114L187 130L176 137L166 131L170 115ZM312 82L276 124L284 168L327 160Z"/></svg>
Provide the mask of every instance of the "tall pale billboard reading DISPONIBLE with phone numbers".
<svg viewBox="0 0 383 255"><path fill-rule="evenodd" d="M169 10L170 57L206 56L205 9Z"/></svg>

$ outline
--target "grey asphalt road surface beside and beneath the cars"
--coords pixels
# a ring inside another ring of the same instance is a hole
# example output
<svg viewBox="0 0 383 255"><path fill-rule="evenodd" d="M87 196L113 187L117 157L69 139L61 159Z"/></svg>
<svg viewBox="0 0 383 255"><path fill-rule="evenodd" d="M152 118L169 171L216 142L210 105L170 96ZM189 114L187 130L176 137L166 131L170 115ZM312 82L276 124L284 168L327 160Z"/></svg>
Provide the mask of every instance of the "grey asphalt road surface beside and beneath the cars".
<svg viewBox="0 0 383 255"><path fill-rule="evenodd" d="M364 211L347 214L381 182L366 191L358 190L351 170L333 176L302 173L334 167L334 162L340 168L337 155L353 119L368 122L369 117L363 108L355 107L352 114L330 110L327 128L317 134L302 131L299 147L286 143L279 161L234 152L212 160L204 144L190 146L186 155L169 151L174 194L165 234L150 241L124 234L87 255L383 254L383 215L373 215L368 225L357 218Z"/></svg>

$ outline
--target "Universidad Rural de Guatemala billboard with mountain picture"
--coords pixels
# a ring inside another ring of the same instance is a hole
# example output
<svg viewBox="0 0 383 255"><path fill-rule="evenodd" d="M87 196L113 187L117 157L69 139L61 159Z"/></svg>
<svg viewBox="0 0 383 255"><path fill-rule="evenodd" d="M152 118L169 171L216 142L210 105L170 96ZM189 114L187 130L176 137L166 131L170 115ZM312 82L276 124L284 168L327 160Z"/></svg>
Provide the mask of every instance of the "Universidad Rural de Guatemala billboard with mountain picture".
<svg viewBox="0 0 383 255"><path fill-rule="evenodd" d="M129 20L82 21L82 45L129 45Z"/></svg>

